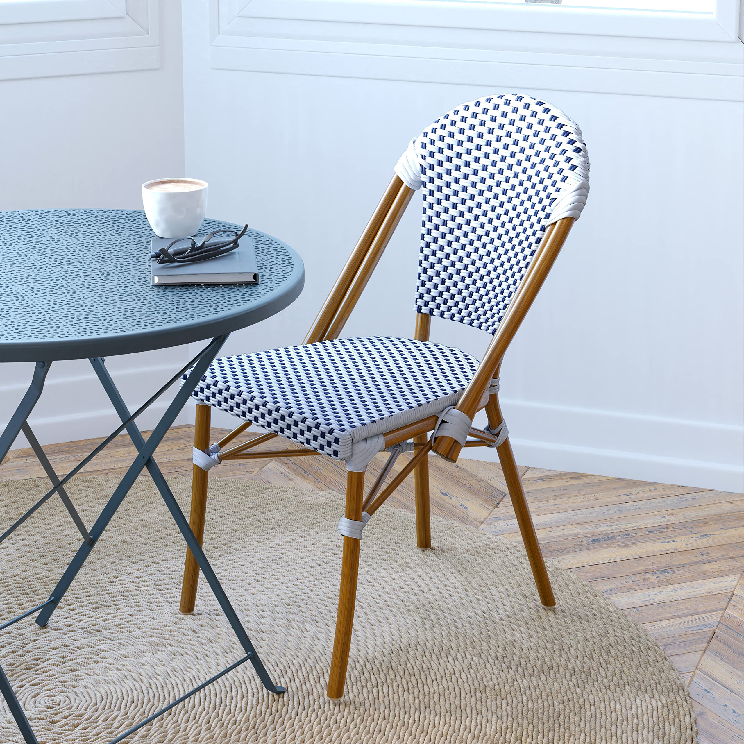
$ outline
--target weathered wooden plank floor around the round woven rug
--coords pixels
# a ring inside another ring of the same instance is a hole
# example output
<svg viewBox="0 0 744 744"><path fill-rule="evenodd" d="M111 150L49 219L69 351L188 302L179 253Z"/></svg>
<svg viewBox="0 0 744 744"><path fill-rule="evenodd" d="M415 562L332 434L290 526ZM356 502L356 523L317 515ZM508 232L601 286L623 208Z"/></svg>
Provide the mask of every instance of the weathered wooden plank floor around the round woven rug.
<svg viewBox="0 0 744 744"><path fill-rule="evenodd" d="M225 433L213 429L212 440ZM161 444L156 458L166 474L190 476L192 434L179 426ZM45 450L62 474L98 441ZM262 447L292 445L275 439ZM118 437L83 473L122 475L134 454ZM377 456L371 477L384 461ZM430 471L432 513L520 541L498 465L432 457ZM345 473L330 458L311 457L232 461L210 475L343 493ZM744 494L527 467L520 473L545 557L591 582L666 650L689 683L700 744L744 744ZM14 450L0 466L0 480L43 475L30 449ZM388 504L414 510L412 477Z"/></svg>

